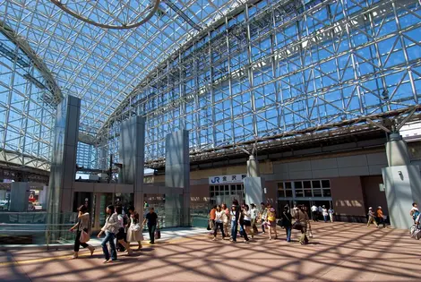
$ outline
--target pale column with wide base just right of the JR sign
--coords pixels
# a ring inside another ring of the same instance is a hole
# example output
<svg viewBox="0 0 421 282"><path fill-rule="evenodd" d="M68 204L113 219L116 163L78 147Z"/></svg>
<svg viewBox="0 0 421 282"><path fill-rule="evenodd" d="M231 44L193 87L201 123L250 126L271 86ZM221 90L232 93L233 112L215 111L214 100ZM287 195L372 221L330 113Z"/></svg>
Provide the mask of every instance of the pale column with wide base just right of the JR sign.
<svg viewBox="0 0 421 282"><path fill-rule="evenodd" d="M247 160L247 177L245 184L245 203L259 206L264 201L264 178L260 177L259 161L253 155Z"/></svg>

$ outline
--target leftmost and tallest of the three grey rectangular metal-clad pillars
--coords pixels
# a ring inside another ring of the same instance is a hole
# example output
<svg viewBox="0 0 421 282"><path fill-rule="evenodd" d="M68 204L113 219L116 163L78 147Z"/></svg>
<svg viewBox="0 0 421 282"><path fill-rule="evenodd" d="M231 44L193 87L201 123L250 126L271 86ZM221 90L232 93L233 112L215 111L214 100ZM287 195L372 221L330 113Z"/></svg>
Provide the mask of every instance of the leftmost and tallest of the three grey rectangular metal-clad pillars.
<svg viewBox="0 0 421 282"><path fill-rule="evenodd" d="M60 223L58 215L73 211L73 184L81 99L67 96L57 106L53 158L48 184L48 222Z"/></svg>

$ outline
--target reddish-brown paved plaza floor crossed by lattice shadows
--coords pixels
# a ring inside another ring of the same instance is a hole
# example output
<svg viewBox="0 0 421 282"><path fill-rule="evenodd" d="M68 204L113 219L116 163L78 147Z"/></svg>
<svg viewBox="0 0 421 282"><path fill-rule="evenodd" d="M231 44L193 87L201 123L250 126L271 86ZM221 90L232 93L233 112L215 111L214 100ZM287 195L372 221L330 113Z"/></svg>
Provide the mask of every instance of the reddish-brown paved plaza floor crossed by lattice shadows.
<svg viewBox="0 0 421 282"><path fill-rule="evenodd" d="M250 244L171 237L110 264L98 247L78 260L69 250L9 250L0 252L0 281L421 281L421 242L407 230L315 223L308 245L278 231L277 240L257 235Z"/></svg>

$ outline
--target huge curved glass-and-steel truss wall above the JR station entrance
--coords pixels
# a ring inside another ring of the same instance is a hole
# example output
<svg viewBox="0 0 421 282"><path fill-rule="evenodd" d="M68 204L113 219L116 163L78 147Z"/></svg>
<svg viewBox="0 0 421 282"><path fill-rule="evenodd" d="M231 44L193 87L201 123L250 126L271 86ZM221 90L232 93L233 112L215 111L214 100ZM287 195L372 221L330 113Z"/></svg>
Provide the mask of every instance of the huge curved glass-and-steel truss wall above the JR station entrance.
<svg viewBox="0 0 421 282"><path fill-rule="evenodd" d="M419 104L419 2L306 2L245 5L194 38L116 109L100 147L117 153L119 124L130 115L146 116L146 160L159 167L166 134L179 129L190 131L191 154L200 155L366 124L366 115Z"/></svg>

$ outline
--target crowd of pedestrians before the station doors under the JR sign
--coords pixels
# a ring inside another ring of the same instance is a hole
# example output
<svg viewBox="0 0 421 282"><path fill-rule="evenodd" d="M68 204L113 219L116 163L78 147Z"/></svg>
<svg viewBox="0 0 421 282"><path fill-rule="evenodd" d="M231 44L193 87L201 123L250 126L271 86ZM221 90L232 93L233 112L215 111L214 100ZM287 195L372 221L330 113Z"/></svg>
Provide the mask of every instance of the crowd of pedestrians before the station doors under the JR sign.
<svg viewBox="0 0 421 282"><path fill-rule="evenodd" d="M278 238L277 225L285 228L287 235L287 242L291 242L292 229L300 230L300 243L308 243L306 236L307 226L309 226L309 218L304 206L297 206L290 210L288 206L284 208L280 215L280 220L277 223L276 210L271 203L261 203L260 209L255 204L239 205L238 201L234 200L231 209L228 209L226 204L214 206L210 212L210 226L208 229L212 230L212 240L217 240L218 231L222 235L222 239L226 237L233 243L237 242L237 238L244 238L245 243L249 243L254 235L258 233L257 224L261 223L262 233L269 235L269 240ZM228 226L230 234L228 235Z"/></svg>

